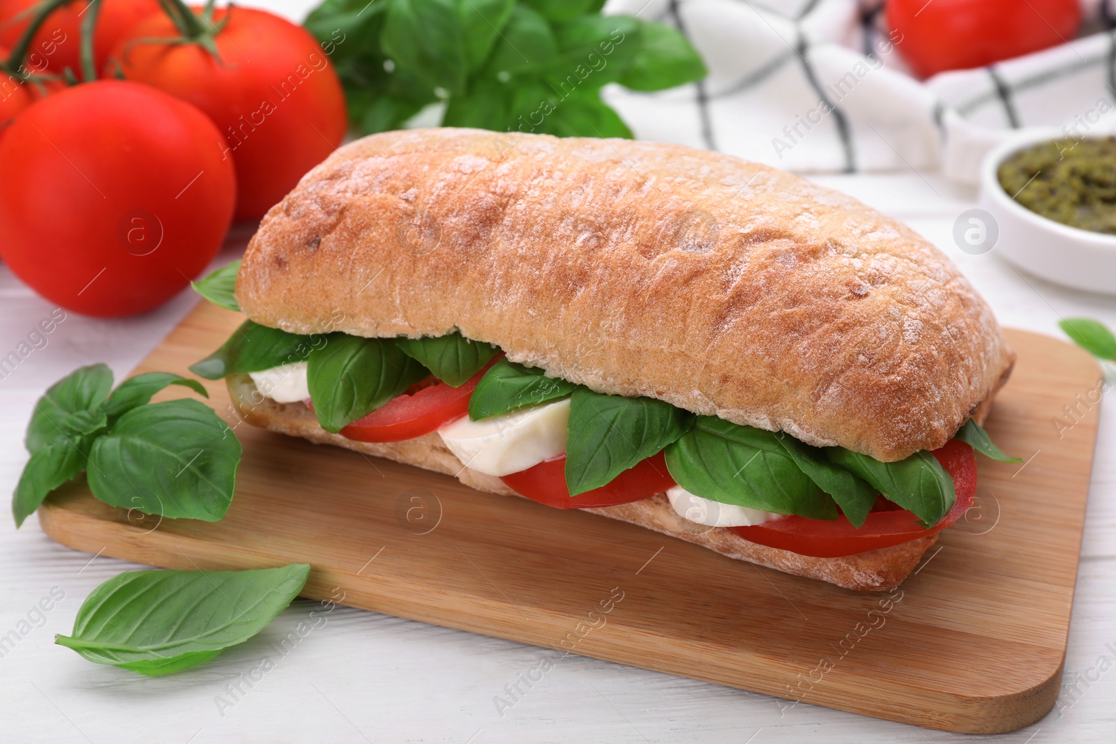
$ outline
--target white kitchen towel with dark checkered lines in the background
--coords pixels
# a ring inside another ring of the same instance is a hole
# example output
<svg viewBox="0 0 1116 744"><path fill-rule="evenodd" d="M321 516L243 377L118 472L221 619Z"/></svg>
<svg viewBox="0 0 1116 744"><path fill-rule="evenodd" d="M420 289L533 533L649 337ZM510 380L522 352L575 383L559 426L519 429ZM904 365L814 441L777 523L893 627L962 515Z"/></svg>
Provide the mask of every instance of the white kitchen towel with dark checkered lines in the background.
<svg viewBox="0 0 1116 744"><path fill-rule="evenodd" d="M789 171L941 168L977 183L984 153L1022 127L1116 132L1116 0L1081 1L1091 36L920 81L883 0L610 0L605 12L681 29L709 77L605 96L642 139Z"/></svg>

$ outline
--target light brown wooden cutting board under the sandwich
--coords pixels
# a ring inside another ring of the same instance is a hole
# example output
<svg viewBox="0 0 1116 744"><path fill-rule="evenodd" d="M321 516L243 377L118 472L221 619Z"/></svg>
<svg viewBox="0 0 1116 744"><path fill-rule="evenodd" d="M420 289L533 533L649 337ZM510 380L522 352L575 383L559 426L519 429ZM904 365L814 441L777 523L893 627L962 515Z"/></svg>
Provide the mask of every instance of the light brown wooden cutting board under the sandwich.
<svg viewBox="0 0 1116 744"><path fill-rule="evenodd" d="M187 374L240 320L203 303L136 371ZM969 519L889 593L237 425L223 383L206 384L211 404L244 447L223 521L129 522L84 485L51 496L39 516L51 538L92 553L175 569L309 562L304 593L315 599L344 592L345 605L776 695L780 705L1007 732L1041 718L1058 695L1100 380L1069 344L1009 338L1019 363L988 428L1029 460L979 457ZM1066 406L1078 413L1067 417Z"/></svg>

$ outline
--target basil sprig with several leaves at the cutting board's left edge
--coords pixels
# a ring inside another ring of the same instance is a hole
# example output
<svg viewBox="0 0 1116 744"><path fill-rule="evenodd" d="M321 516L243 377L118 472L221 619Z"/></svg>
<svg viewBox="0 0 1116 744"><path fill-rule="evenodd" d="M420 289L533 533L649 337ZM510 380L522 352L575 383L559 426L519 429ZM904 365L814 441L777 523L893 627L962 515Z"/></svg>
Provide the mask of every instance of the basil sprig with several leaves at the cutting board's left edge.
<svg viewBox="0 0 1116 744"><path fill-rule="evenodd" d="M137 375L109 394L113 373L103 364L51 385L27 428L31 458L12 497L17 526L51 491L85 471L93 495L114 506L170 519L224 516L240 443L196 400L148 403L169 385L206 395L196 380L170 373Z"/></svg>

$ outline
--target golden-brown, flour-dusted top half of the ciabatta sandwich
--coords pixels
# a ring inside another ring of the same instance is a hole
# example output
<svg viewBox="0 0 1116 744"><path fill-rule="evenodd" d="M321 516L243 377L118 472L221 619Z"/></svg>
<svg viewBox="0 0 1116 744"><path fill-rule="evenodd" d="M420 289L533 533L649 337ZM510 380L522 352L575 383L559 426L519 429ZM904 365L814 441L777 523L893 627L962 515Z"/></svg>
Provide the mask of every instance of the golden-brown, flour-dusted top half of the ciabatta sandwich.
<svg viewBox="0 0 1116 744"><path fill-rule="evenodd" d="M892 462L944 445L1010 369L992 311L905 225L677 145L475 129L354 142L263 219L253 320L443 335Z"/></svg>

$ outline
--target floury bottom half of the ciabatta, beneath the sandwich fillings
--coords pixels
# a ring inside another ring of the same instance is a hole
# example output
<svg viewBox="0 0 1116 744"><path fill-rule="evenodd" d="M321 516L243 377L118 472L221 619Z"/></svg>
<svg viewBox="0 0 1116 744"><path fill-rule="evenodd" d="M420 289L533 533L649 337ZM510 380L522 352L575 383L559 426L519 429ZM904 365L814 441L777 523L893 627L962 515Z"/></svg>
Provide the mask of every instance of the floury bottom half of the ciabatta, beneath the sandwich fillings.
<svg viewBox="0 0 1116 744"><path fill-rule="evenodd" d="M354 442L321 428L314 413L301 403L282 404L263 397L248 375L233 375L227 383L237 410L253 426L301 436L317 444L335 444L377 457L454 475L465 485L479 491L517 495L500 479L463 467L436 433L406 442L385 444ZM859 591L883 591L899 584L918 564L923 553L937 540L935 533L902 545L857 555L812 558L749 542L724 528L709 528L684 520L675 513L664 494L620 506L585 511L680 538L729 558L759 563L810 579L821 579L838 587Z"/></svg>

